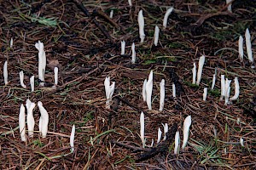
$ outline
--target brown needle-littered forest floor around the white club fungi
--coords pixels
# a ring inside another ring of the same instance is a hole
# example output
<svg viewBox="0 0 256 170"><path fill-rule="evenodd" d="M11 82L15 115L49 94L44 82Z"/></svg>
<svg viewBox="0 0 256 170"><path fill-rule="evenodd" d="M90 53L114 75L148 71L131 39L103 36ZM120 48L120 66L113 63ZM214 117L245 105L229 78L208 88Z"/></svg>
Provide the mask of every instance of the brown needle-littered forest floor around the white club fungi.
<svg viewBox="0 0 256 170"><path fill-rule="evenodd" d="M238 39L248 28L256 56L256 4L224 1L1 1L0 3L0 168L1 169L255 169L256 74L247 59L238 58ZM174 10L166 29L166 9ZM113 19L109 13L113 9ZM140 42L137 15L143 9L145 41ZM154 46L154 26L160 41ZM14 45L10 47L10 39ZM245 37L244 37L245 40ZM38 50L44 42L45 87L38 86ZM126 42L125 55L121 41ZM136 63L131 64L135 42ZM193 63L206 56L201 83L192 84ZM9 83L3 82L8 60ZM255 59L254 59L255 60ZM54 84L53 68L59 68ZM24 71L27 88L21 88ZM154 72L152 111L143 102L143 81ZM212 76L216 73L213 90ZM35 91L29 78L35 76ZM220 77L234 78L239 98L220 100ZM104 80L115 82L113 104L106 109ZM160 81L166 81L164 111L159 111ZM177 98L172 97L172 83ZM203 101L204 88L208 88ZM49 113L49 133L38 133L40 113L33 113L35 132L20 140L19 110L26 99L42 101ZM146 147L140 139L140 115L145 114ZM192 117L189 142L174 155L174 135ZM167 123L166 141L156 144ZM69 137L75 125L74 152ZM240 139L244 140L241 146ZM154 139L153 147L150 147Z"/></svg>

